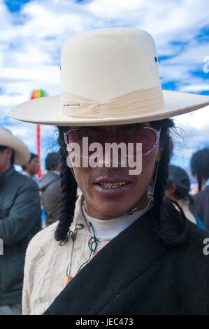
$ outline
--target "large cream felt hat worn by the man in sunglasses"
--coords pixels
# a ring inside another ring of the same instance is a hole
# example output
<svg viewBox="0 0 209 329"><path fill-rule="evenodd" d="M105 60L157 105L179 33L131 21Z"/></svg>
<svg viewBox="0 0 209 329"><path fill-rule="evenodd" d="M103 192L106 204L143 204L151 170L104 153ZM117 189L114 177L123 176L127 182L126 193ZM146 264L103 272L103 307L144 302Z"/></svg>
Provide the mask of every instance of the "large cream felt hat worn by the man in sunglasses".
<svg viewBox="0 0 209 329"><path fill-rule="evenodd" d="M132 28L94 29L62 48L61 95L11 109L17 120L45 125L122 125L200 109L209 97L161 90L152 36Z"/></svg>

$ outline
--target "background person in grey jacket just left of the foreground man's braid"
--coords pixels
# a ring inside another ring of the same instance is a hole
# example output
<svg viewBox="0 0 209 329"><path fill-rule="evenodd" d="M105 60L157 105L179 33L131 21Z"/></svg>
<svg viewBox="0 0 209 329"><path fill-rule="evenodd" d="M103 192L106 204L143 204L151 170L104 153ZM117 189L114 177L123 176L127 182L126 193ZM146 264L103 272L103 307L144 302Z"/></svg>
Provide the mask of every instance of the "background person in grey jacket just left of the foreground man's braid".
<svg viewBox="0 0 209 329"><path fill-rule="evenodd" d="M55 223L59 218L61 203L60 160L59 153L49 153L45 159L47 173L43 175L38 186L41 190L43 207L46 214L46 225Z"/></svg>

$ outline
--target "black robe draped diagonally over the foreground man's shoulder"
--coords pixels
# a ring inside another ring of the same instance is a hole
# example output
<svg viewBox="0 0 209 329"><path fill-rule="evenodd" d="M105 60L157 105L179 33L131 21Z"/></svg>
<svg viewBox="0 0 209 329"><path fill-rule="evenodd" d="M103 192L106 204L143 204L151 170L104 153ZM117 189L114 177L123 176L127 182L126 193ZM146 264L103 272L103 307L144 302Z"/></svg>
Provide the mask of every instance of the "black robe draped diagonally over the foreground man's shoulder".
<svg viewBox="0 0 209 329"><path fill-rule="evenodd" d="M171 202L166 208L178 235L180 211ZM209 233L187 220L185 242L167 246L156 223L154 207L108 242L44 314L209 314Z"/></svg>

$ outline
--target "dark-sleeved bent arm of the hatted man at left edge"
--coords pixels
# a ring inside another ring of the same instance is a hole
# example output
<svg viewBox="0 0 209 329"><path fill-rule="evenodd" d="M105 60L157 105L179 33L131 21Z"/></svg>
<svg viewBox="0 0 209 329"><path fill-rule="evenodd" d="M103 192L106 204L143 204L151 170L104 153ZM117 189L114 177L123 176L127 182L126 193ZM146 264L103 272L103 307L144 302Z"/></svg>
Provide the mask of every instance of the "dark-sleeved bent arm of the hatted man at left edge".
<svg viewBox="0 0 209 329"><path fill-rule="evenodd" d="M39 218L41 204L38 186L32 180L27 181L18 191L8 216L0 221L0 238L3 239L3 244L11 245L20 241L37 225Z"/></svg>

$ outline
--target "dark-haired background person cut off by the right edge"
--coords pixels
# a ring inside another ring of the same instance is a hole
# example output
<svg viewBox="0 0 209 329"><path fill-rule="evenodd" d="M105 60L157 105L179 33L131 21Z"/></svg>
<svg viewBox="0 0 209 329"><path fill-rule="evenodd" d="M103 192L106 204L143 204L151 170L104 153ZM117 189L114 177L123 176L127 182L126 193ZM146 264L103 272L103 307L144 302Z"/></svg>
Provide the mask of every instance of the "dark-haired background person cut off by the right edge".
<svg viewBox="0 0 209 329"><path fill-rule="evenodd" d="M191 171L196 177L199 192L192 196L194 202L189 209L201 218L209 230L209 148L203 148L192 155Z"/></svg>

